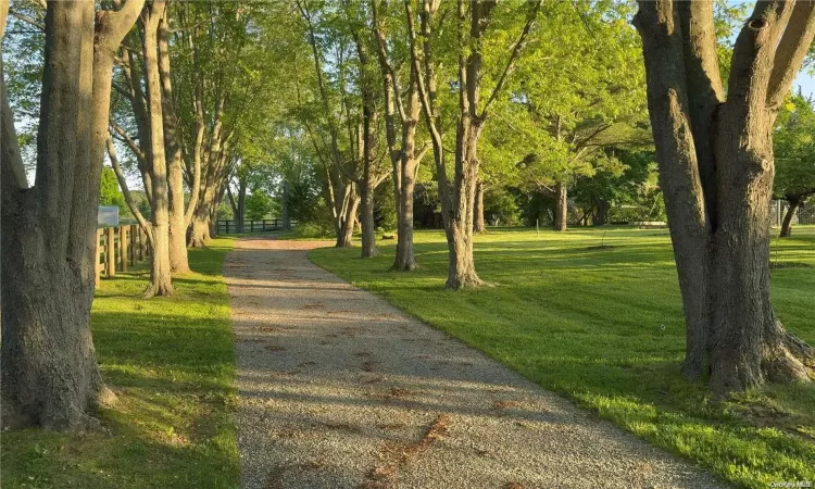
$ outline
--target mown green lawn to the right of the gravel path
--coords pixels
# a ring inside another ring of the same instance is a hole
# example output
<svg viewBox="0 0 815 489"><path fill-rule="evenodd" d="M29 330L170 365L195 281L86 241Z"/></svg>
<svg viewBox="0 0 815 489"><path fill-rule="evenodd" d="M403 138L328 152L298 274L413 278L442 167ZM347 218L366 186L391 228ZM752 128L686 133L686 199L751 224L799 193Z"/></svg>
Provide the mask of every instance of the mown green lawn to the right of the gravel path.
<svg viewBox="0 0 815 489"><path fill-rule="evenodd" d="M773 241L776 312L815 342L815 227ZM490 286L442 290L441 233L416 235L422 269L388 272L383 255L318 249L311 259L414 316L562 392L654 444L747 487L815 482L815 386L776 386L714 402L679 375L684 324L665 230L493 229L477 236L476 269ZM603 241L611 248L597 249Z"/></svg>

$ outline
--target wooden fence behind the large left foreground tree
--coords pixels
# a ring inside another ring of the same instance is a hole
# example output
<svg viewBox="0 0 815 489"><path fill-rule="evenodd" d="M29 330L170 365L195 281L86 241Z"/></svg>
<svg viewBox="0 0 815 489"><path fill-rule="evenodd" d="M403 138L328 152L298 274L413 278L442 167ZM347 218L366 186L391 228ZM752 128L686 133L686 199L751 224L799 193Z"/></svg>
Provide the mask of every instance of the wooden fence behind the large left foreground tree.
<svg viewBox="0 0 815 489"><path fill-rule="evenodd" d="M128 265L148 256L147 235L138 224L97 229L97 287L102 273L105 277L115 277L116 272L127 272Z"/></svg>

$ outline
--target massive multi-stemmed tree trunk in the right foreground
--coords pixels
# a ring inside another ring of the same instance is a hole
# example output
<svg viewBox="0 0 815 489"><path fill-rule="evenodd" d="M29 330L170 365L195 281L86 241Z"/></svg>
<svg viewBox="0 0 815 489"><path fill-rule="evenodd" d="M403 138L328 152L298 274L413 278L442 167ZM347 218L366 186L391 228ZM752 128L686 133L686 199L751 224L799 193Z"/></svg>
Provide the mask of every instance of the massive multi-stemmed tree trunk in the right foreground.
<svg viewBox="0 0 815 489"><path fill-rule="evenodd" d="M810 380L815 353L770 301L769 199L773 127L815 37L815 3L757 2L726 92L713 2L643 0L635 25L685 306L684 373L710 373L716 392Z"/></svg>

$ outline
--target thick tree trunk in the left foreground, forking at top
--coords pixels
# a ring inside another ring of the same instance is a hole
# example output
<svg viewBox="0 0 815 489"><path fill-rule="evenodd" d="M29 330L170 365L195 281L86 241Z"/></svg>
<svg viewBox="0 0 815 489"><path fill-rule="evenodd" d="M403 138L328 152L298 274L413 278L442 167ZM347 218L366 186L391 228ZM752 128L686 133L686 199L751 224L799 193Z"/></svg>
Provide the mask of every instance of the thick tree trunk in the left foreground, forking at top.
<svg viewBox="0 0 815 489"><path fill-rule="evenodd" d="M48 2L37 176L28 188L2 90L3 425L84 429L109 391L90 333L111 77L142 0ZM0 26L8 2L0 3ZM3 84L4 85L4 84Z"/></svg>

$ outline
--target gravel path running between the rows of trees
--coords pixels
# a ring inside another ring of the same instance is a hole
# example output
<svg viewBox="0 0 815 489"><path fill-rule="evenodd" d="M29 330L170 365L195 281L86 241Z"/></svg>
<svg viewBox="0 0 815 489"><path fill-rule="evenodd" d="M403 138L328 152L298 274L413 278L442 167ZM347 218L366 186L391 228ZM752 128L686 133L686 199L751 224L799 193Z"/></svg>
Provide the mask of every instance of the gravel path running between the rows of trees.
<svg viewBox="0 0 815 489"><path fill-rule="evenodd" d="M722 487L308 260L328 244L227 256L241 487Z"/></svg>

